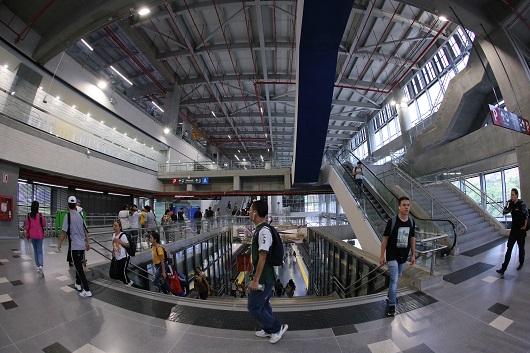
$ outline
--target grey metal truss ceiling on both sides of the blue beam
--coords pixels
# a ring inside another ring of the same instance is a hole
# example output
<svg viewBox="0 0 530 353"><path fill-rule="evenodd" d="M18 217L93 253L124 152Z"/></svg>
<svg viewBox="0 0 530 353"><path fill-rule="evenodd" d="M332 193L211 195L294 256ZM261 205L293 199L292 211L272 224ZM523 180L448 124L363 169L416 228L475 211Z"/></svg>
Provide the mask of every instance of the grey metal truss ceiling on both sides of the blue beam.
<svg viewBox="0 0 530 353"><path fill-rule="evenodd" d="M331 149L350 140L389 94L445 43L457 26L441 21L442 11L456 22L449 6L462 13L473 10L474 18L484 19L486 26L495 23L491 11L511 11L502 4L505 0L464 5L451 0L351 2L336 49L325 138ZM30 28L41 36L33 53L37 62L67 50L153 115L151 102L164 107L167 92L178 90L179 120L189 122L202 144L229 157L239 150L255 159L293 159L297 26L302 20L297 10L303 0L3 3L27 24L17 41L23 41ZM150 12L140 15L143 7Z"/></svg>

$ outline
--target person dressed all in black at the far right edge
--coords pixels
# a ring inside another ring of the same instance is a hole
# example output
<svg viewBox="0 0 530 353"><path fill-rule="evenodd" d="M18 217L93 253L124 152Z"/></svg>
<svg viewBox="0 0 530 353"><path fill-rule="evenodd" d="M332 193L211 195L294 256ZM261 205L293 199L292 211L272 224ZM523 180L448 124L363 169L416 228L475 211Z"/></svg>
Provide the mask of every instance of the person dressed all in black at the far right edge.
<svg viewBox="0 0 530 353"><path fill-rule="evenodd" d="M510 236L508 237L508 248L504 256L502 267L497 270L497 273L504 276L504 272L508 268L510 259L512 258L512 250L517 242L519 247L519 266L517 271L523 268L524 264L524 243L526 238L526 227L528 226L528 208L526 203L519 199L519 190L512 189L510 192L510 201L504 206L502 214L512 214L512 228L510 229Z"/></svg>

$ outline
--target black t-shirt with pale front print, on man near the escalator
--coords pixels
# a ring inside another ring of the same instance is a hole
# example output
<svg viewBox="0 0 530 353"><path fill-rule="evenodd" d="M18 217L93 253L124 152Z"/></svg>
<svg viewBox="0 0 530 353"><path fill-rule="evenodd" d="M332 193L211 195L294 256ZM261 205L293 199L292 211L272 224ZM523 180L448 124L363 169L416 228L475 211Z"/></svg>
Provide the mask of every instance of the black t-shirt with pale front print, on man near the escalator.
<svg viewBox="0 0 530 353"><path fill-rule="evenodd" d="M392 221L389 220L386 224L383 236L388 237L386 246L386 261L397 260L402 264L407 261L410 252L410 239L415 237L414 227L410 222L410 218L403 222L399 217L396 218L394 229L391 230ZM392 232L392 233L391 233Z"/></svg>

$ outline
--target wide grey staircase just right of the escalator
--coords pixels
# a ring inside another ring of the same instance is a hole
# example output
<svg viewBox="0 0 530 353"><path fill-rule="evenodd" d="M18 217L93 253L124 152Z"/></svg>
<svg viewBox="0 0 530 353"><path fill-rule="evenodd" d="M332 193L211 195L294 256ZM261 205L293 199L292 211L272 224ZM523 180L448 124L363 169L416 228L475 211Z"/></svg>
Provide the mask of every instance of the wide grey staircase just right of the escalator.
<svg viewBox="0 0 530 353"><path fill-rule="evenodd" d="M477 212L474 205L463 197L463 193L443 184L427 186L425 189L466 226L466 232L458 235L460 253L502 239L500 230Z"/></svg>

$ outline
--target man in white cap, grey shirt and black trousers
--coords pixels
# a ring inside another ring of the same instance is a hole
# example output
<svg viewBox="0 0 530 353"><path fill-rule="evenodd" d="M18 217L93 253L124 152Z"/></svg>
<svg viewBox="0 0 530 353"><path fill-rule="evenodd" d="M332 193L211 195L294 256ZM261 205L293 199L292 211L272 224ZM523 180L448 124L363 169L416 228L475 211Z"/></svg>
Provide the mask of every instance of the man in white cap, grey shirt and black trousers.
<svg viewBox="0 0 530 353"><path fill-rule="evenodd" d="M92 292L88 288L88 281L83 271L85 250L90 250L88 230L83 217L76 210L76 201L75 196L68 198L69 212L63 219L63 233L59 243L57 243L57 249L61 251L61 244L68 235L70 237L71 256L75 266L75 289L81 292L79 293L80 296L91 297Z"/></svg>

